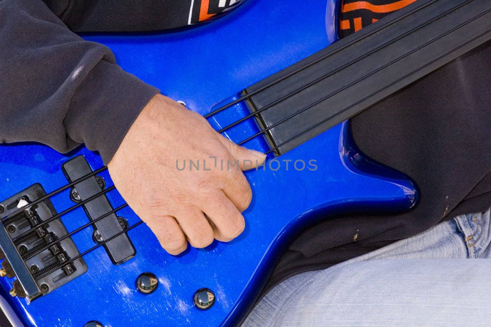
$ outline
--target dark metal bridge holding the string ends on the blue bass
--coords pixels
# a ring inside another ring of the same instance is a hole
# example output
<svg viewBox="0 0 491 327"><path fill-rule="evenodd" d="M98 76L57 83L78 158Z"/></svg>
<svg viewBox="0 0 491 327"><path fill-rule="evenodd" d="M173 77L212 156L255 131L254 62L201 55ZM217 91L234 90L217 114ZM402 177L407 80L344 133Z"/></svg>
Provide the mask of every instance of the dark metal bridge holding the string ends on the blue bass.
<svg viewBox="0 0 491 327"><path fill-rule="evenodd" d="M28 206L45 195L43 187L34 184L0 202L0 248L5 258L1 274L17 278L10 292L12 296L33 300L87 271L83 258L70 260L80 254L72 238L57 241L68 234L61 219L42 224L57 214L51 201L46 199ZM51 246L46 248L48 244Z"/></svg>

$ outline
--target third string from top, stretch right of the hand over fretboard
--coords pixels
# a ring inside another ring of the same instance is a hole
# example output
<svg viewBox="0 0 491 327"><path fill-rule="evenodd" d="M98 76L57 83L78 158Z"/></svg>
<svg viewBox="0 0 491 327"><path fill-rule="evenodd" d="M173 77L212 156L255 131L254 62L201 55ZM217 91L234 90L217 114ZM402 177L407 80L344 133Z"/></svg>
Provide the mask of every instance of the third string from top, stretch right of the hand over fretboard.
<svg viewBox="0 0 491 327"><path fill-rule="evenodd" d="M341 89L337 89L337 90L335 90L335 91L333 91L333 92L331 92L331 93L327 94L326 96L324 96L324 97L322 97L321 99L319 99L319 100L315 101L314 103L312 103L312 104L310 104L310 105L308 105L308 106L306 106L306 107L304 107L304 108L300 109L299 111L296 111L296 112L294 112L293 114L290 114L289 116L287 116L287 117L285 117L285 118L283 118L283 119L281 119L281 120L279 120L279 121L277 121L277 122L273 123L272 125L268 126L267 128L264 128L264 129L260 130L260 131L259 131L259 132L257 132L256 134L254 134L254 135L252 135L252 136L249 136L249 137L248 137L248 138L246 138L245 140L240 141L239 143L237 143L237 145L243 145L243 144L245 144L246 142L248 142L248 141L252 140L253 138L255 138L255 137L257 137L257 136L259 136L259 135L261 135L261 134L263 134L263 133L265 133L265 132L267 132L267 131L271 130L272 128L274 128L274 127L276 127L276 126L278 126L278 125L280 125L280 124L284 123L285 121L287 121L287 120L289 120L289 119L294 118L295 116L297 116L297 115L301 114L302 112L304 112L304 111L306 111L306 110L308 110L308 109L310 109L310 108L312 108L312 107L314 107L314 106L316 106L316 105L320 104L321 102L323 102L323 101L327 100L328 98L330 98L330 97L332 97L332 96L334 96L334 95L338 94L339 92L341 92L341 91L343 91L343 90L345 90L345 89L347 89L347 88L349 88L349 87L351 87L351 86L355 85L356 83L361 82L362 80L364 80L364 79L366 79L366 78L368 78L368 77L372 76L373 74L378 73L378 72L379 72L379 71L381 71L382 69L387 68L388 66L390 66L390 65L394 64L395 62L399 61L400 59L406 58L407 56L409 56L409 55L413 54L414 52L416 52L416 51L418 51L418 50L421 50L422 48L424 48L424 47L426 47L427 45L429 45L429 44L431 44L431 43L435 42L436 40L438 40L438 39L440 39L440 38L442 38L442 37L444 37L444 36L448 35L449 33L453 32L453 31L455 31L455 30L460 29L461 27L463 27L464 25L468 24L469 22L471 22L471 21L473 21L473 20L475 20L475 19L477 19L477 18L479 18L479 17L481 17L481 16L483 16L483 15L487 14L489 11L490 11L490 10L487 10L487 11L485 11L484 13L481 13L481 14L477 15L476 17L473 17L473 18L471 18L471 19L469 19L469 20L465 21L464 23L462 23L462 24L460 24L460 25L458 25L458 26L454 27L453 29L448 30L448 31L446 31L446 32L444 32L444 33L442 33L442 34L440 34L440 35L438 35L438 36L434 37L433 39L431 39L431 40L429 40L429 41L427 41L427 42L423 43L422 45L420 45L420 46L418 46L417 48L415 48L415 49L413 49L413 50L411 50L411 51L409 51L409 52L405 53L404 55L401 55L401 56L399 56L398 58L395 58L395 59L393 59L393 60L389 61L388 63L386 63L386 64L382 65L381 67L379 67L379 68L377 68L377 69L375 69L375 70L371 71L370 73L365 74L364 76L359 77L358 79L356 79L355 81L353 81L353 82L351 82L351 83L349 83L349 84L345 85L345 86L344 86L344 87L342 87ZM452 50L452 51L455 51L455 50ZM447 53L447 54L448 54L448 53ZM447 55L447 54L445 54L445 55ZM412 74L412 73L411 73L411 74ZM379 90L379 91L377 91L377 92L375 92L375 93L378 93L378 92L380 92L380 90ZM375 93L374 93L374 94L375 94ZM359 103L359 102L357 102L356 104L358 104L358 103ZM355 105L356 105L356 104L355 104ZM337 116L337 115L339 115L339 114L343 113L344 111L346 111L347 109L349 109L349 108L351 108L351 107L353 107L353 105L352 105L352 106L350 106L350 107L348 107L348 108L346 108L346 109L344 109L344 110L341 110L340 112L338 112L338 113L336 113L336 114L334 114L334 115L329 116L329 117L327 118L327 120L328 120L328 119L332 119L332 118L334 118L335 116ZM262 109L264 109L264 108L262 108ZM261 110L262 110L262 109L261 109ZM258 112L258 111L257 111L257 112ZM256 112L256 113L257 113L257 112ZM249 115L249 116L250 116L250 115ZM325 121L326 121L326 120L323 120L322 122L325 122ZM322 122L321 122L321 123L322 123ZM309 130L310 130L310 129L309 129ZM308 132L309 130L306 130L306 131L300 132L300 134L298 134L298 136L300 136L300 135L302 135L302 134L304 134L304 133ZM268 153L268 152L267 152L267 153Z"/></svg>

